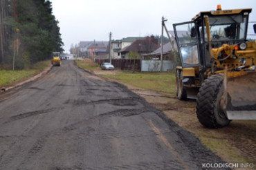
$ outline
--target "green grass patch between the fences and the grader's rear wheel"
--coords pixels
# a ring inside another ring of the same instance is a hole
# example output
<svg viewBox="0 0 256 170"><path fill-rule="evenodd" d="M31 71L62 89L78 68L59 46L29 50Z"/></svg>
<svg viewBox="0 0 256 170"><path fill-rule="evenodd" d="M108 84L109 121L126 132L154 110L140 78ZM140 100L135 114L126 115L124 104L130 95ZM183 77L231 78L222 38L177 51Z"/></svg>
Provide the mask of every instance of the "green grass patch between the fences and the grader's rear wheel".
<svg viewBox="0 0 256 170"><path fill-rule="evenodd" d="M175 73L119 73L117 75L101 75L117 79L124 84L164 94L175 94Z"/></svg>

